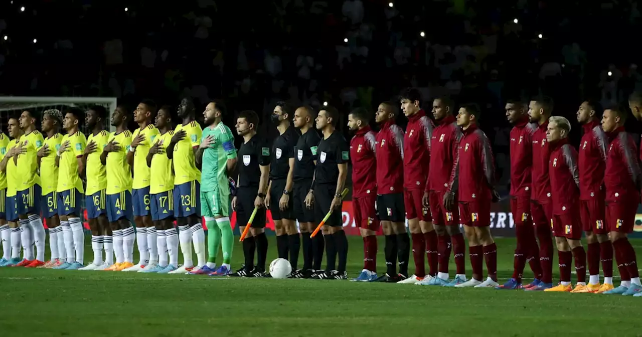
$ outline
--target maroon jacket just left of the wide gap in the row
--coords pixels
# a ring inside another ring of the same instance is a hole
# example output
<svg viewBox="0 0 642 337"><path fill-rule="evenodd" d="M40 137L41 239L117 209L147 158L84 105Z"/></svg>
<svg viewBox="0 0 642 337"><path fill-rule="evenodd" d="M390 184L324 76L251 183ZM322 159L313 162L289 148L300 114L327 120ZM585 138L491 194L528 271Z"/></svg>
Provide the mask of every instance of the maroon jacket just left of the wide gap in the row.
<svg viewBox="0 0 642 337"><path fill-rule="evenodd" d="M495 165L490 141L477 126L463 131L459 143L459 189L460 202L474 202L492 198Z"/></svg>

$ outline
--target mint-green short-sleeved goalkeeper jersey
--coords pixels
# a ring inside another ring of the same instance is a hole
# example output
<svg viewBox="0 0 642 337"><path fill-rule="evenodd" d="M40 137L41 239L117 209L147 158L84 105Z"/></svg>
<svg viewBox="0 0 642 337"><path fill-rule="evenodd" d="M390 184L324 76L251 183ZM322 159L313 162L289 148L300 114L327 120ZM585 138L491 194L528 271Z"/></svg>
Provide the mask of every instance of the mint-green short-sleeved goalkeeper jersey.
<svg viewBox="0 0 642 337"><path fill-rule="evenodd" d="M203 152L201 191L229 194L227 182L227 159L236 158L236 148L234 148L234 135L232 131L223 123L212 127L207 126L203 130L203 138L212 135L214 144L210 145Z"/></svg>

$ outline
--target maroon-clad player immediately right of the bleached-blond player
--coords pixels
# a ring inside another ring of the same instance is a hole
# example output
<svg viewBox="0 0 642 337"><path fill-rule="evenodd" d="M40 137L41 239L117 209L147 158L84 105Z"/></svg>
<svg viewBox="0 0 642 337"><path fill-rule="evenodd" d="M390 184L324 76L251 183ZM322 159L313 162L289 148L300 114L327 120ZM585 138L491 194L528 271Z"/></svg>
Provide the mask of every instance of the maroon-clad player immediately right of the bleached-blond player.
<svg viewBox="0 0 642 337"><path fill-rule="evenodd" d="M580 220L587 243L589 283L584 291L595 293L613 289L613 246L604 221L602 182L606 167L606 146L609 144L599 118L602 115L598 103L584 101L577 111L577 121L584 128L580 141L578 169L580 171ZM600 261L604 272L604 284L600 286Z"/></svg>

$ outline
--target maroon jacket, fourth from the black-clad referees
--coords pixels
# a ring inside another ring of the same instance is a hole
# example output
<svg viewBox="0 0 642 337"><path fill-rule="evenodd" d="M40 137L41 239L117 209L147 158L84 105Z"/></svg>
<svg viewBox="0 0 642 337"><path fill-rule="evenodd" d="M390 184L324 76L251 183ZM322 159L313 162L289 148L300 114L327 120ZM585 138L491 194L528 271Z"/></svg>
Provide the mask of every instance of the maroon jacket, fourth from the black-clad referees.
<svg viewBox="0 0 642 337"><path fill-rule="evenodd" d="M457 191L458 147L461 139L462 130L455 123L455 116L448 115L437 122L430 139L426 191Z"/></svg>

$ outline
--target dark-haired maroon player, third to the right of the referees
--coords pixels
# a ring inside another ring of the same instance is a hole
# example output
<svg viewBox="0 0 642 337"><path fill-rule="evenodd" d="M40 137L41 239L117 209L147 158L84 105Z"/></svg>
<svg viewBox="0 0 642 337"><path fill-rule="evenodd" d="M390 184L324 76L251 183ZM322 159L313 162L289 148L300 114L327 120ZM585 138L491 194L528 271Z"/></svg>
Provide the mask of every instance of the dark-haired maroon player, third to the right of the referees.
<svg viewBox="0 0 642 337"><path fill-rule="evenodd" d="M430 139L433 135L434 125L421 108L421 94L417 89L405 89L401 92L400 98L401 110L408 117L408 125L403 138L403 196L408 228L412 236L415 273L407 279L399 281L399 283L417 284L423 281L426 276L424 263L425 235L428 232L435 231L428 207L425 207L422 203L424 189L428 180ZM406 237L399 236L403 241L406 241L407 237L407 235ZM403 242L403 245L408 245L409 243Z"/></svg>

